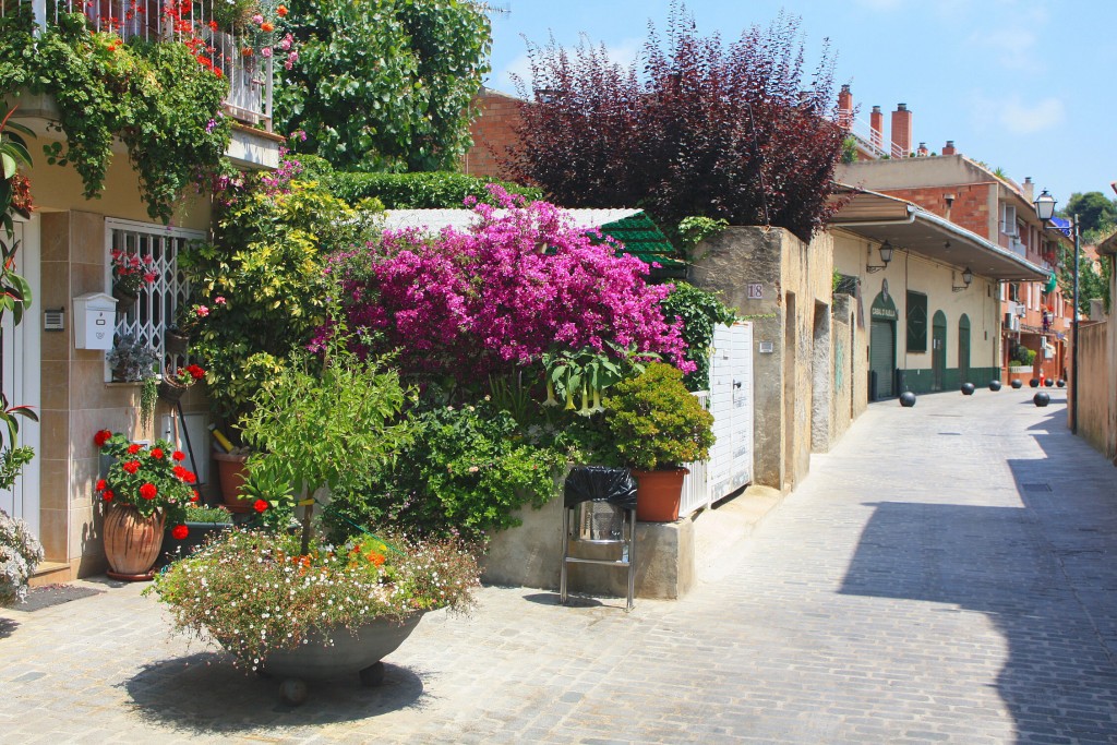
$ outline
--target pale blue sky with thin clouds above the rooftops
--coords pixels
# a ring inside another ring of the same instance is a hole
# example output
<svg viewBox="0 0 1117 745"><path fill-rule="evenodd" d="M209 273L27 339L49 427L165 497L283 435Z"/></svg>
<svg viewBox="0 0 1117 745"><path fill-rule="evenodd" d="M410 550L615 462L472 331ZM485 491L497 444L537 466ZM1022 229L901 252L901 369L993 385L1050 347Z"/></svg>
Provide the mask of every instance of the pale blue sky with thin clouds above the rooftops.
<svg viewBox="0 0 1117 745"><path fill-rule="evenodd" d="M491 0L493 73L487 85L515 93L508 75L529 74L522 37L573 47L580 34L634 59L648 21L663 28L668 0ZM690 0L698 31L737 37L781 9L802 18L806 67L829 37L836 87L852 86L858 118L896 104L914 115L915 143L1032 176L1066 203L1071 192L1117 180L1117 2L1113 0ZM915 144L914 143L914 144Z"/></svg>

